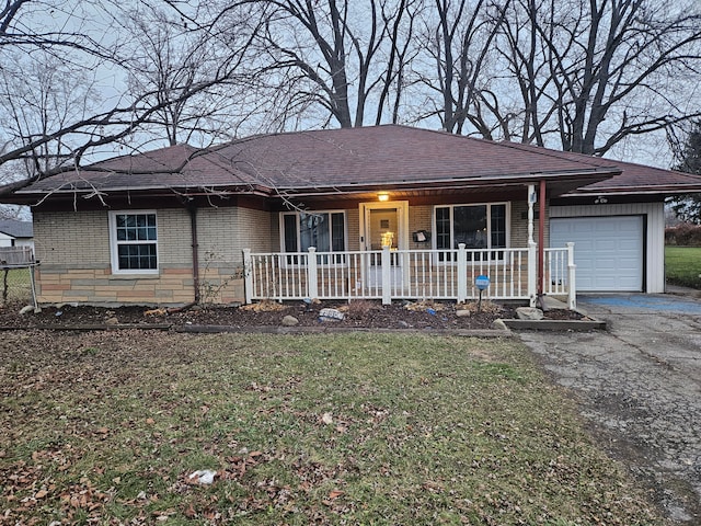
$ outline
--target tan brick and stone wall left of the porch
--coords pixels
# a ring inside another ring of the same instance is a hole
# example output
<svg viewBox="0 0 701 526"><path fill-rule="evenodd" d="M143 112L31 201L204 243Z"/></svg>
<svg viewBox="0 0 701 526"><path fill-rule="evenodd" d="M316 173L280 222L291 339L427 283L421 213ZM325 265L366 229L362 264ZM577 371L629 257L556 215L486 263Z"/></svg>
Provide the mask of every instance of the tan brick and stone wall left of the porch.
<svg viewBox="0 0 701 526"><path fill-rule="evenodd" d="M138 211L138 210L131 210ZM38 300L43 305L184 305L194 300L191 218L159 209L158 275L114 275L107 210L34 214ZM208 208L197 214L200 295L205 301L242 302L242 250L271 251L269 214Z"/></svg>

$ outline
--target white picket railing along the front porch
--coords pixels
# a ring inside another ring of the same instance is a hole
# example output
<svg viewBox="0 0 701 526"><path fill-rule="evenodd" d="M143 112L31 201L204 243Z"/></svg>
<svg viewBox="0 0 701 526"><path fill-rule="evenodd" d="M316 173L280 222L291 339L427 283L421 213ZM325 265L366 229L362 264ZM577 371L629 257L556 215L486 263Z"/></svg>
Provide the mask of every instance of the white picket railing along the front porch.
<svg viewBox="0 0 701 526"><path fill-rule="evenodd" d="M567 296L575 306L574 245L547 249L543 293ZM491 299L522 299L536 305L537 253L529 249L383 250L295 253L243 251L245 300L452 299L479 297L475 278L484 275Z"/></svg>

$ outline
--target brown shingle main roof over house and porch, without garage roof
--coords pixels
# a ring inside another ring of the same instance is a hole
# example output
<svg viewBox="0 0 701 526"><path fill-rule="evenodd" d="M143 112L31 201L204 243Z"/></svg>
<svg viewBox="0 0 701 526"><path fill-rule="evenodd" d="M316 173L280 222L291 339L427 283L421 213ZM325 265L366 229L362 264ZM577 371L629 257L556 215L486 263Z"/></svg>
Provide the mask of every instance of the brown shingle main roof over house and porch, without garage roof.
<svg viewBox="0 0 701 526"><path fill-rule="evenodd" d="M611 161L406 126L271 134L207 150L188 146L118 157L65 172L19 195L76 190L242 188L322 191L617 173ZM588 179L587 179L588 178Z"/></svg>

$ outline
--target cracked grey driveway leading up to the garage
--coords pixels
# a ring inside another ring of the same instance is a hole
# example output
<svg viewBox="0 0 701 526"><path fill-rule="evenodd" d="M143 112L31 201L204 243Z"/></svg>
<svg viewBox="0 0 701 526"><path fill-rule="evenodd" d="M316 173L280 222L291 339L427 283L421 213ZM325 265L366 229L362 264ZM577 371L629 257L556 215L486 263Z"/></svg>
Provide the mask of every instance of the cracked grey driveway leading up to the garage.
<svg viewBox="0 0 701 526"><path fill-rule="evenodd" d="M584 296L608 331L525 332L595 436L676 524L701 524L701 300Z"/></svg>

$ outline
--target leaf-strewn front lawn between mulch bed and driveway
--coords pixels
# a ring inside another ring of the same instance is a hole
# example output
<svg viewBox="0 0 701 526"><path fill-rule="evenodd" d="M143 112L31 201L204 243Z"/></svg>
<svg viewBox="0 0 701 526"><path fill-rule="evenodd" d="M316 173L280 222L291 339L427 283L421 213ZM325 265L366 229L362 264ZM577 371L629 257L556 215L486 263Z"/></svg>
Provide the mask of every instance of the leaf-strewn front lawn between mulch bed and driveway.
<svg viewBox="0 0 701 526"><path fill-rule="evenodd" d="M0 517L664 524L528 356L416 334L8 332ZM189 478L205 469L212 484Z"/></svg>

